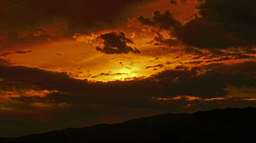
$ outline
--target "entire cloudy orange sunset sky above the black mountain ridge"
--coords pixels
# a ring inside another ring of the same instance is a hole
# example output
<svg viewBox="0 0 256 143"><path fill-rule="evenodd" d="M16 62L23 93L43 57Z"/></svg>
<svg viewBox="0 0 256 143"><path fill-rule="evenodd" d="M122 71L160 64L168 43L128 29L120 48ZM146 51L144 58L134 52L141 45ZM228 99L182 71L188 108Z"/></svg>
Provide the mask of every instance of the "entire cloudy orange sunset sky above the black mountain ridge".
<svg viewBox="0 0 256 143"><path fill-rule="evenodd" d="M255 5L0 1L0 136L256 107Z"/></svg>

